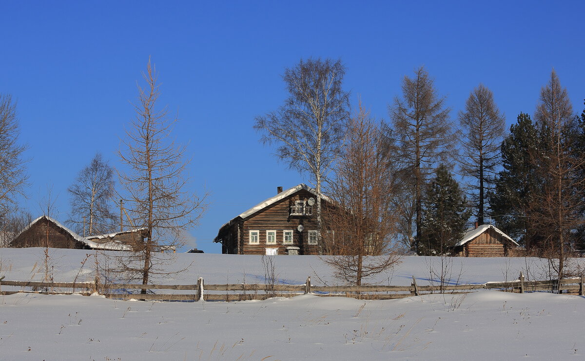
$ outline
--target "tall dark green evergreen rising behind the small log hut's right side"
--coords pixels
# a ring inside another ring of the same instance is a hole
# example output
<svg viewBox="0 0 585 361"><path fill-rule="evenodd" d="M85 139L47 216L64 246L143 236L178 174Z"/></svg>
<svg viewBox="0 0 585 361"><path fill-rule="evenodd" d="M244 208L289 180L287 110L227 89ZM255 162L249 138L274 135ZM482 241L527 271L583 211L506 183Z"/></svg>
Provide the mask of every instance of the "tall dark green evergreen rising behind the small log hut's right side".
<svg viewBox="0 0 585 361"><path fill-rule="evenodd" d="M528 208L534 190L541 183L529 152L538 149L540 143L535 123L528 114L520 113L501 145L503 170L495 178L494 191L488 194L495 224L526 245L534 238L526 218Z"/></svg>

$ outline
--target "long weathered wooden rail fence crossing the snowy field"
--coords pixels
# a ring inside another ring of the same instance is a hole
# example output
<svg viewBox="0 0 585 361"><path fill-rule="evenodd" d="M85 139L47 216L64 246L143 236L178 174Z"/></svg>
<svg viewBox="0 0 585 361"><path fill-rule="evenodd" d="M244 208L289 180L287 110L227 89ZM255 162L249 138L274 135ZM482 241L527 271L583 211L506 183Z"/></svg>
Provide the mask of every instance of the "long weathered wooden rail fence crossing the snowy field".
<svg viewBox="0 0 585 361"><path fill-rule="evenodd" d="M311 277L305 284L204 284L199 278L197 284L125 284L125 283L94 283L94 282L40 282L40 281L5 281L0 278L0 295L9 295L22 292L35 292L43 294L71 294L75 290L84 295L94 292L105 295L108 298L140 299L159 301L243 301L264 300L269 297L292 297L298 294L314 294L321 297L342 296L368 300L389 300L393 298L411 297L427 293L469 293L473 290L508 291L524 293L526 291L566 291L567 293L583 295L583 276L562 280L525 281L520 274L518 280L487 282L483 284L436 284L418 285L415 277L412 277L411 286L315 286L311 284ZM2 286L31 287L32 290L2 291ZM39 291L44 288L44 291ZM72 292L55 291L55 288L73 288ZM121 290L190 290L190 294L137 294ZM207 291L207 292L206 292ZM211 291L211 292L210 292ZM241 291L240 293L230 293ZM260 293L263 292L263 293Z"/></svg>

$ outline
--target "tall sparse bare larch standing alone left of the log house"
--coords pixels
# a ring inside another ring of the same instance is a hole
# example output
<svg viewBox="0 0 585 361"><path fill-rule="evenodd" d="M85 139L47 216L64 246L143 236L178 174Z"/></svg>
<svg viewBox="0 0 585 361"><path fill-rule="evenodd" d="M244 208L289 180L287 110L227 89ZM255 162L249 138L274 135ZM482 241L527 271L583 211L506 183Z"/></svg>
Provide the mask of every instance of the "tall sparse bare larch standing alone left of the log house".
<svg viewBox="0 0 585 361"><path fill-rule="evenodd" d="M168 274L168 257L159 251L182 245L181 234L198 225L207 208L207 194L198 197L187 189L186 147L171 139L177 118L168 115L166 106L157 108L160 90L150 59L143 78L146 87L138 86L136 116L118 154L127 169L119 171L119 178L130 224L146 227L147 237L134 245L135 252L118 257L117 271L148 284L152 277Z"/></svg>

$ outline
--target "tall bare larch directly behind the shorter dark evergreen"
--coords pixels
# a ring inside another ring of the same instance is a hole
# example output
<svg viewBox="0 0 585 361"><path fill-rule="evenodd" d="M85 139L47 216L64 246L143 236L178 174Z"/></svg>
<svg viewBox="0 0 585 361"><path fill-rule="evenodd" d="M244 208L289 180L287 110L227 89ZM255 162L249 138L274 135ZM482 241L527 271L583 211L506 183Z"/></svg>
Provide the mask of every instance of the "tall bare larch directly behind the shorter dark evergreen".
<svg viewBox="0 0 585 361"><path fill-rule="evenodd" d="M395 97L394 104L389 106L399 159L412 174L409 186L415 204L415 250L421 236L425 185L439 161L446 163L453 154L456 133L449 117L451 109L445 101L446 97L438 95L428 71L419 67L414 77L404 77L402 97Z"/></svg>

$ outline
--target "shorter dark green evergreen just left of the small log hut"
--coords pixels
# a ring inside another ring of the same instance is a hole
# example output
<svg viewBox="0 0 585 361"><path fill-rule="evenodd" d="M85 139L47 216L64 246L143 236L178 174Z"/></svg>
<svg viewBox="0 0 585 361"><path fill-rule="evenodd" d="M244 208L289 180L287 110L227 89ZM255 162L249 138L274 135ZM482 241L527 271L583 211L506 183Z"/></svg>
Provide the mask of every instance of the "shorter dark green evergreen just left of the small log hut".
<svg viewBox="0 0 585 361"><path fill-rule="evenodd" d="M463 238L470 212L466 197L446 166L441 164L426 190L419 254L444 255Z"/></svg>

